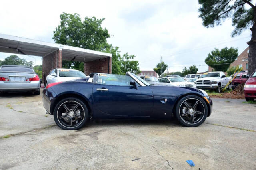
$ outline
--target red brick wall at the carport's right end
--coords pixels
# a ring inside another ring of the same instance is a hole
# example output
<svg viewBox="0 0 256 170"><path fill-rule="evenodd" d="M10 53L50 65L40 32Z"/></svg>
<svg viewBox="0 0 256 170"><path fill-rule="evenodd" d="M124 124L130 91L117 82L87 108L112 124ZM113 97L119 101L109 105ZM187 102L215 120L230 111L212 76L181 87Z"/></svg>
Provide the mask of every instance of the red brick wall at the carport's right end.
<svg viewBox="0 0 256 170"><path fill-rule="evenodd" d="M112 57L84 63L84 73L112 73Z"/></svg>

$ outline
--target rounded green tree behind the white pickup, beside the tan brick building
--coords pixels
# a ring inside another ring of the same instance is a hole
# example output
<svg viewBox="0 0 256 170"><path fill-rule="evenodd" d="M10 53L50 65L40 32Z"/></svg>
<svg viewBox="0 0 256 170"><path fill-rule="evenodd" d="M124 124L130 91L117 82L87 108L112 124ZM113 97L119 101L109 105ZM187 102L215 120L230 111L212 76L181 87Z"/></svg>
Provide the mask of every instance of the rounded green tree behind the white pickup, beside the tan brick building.
<svg viewBox="0 0 256 170"><path fill-rule="evenodd" d="M227 47L219 49L214 49L208 54L208 57L204 62L214 68L215 71L227 71L230 63L233 63L238 56L238 49Z"/></svg>

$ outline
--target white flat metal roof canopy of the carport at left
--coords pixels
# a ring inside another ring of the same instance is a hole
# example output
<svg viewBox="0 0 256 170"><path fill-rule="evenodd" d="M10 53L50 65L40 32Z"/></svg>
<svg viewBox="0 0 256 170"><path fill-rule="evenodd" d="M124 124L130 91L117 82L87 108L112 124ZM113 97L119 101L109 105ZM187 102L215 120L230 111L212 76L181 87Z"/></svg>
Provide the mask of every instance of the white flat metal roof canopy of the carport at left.
<svg viewBox="0 0 256 170"><path fill-rule="evenodd" d="M64 60L86 62L112 57L110 53L0 34L0 52L44 57L58 49L62 50Z"/></svg>

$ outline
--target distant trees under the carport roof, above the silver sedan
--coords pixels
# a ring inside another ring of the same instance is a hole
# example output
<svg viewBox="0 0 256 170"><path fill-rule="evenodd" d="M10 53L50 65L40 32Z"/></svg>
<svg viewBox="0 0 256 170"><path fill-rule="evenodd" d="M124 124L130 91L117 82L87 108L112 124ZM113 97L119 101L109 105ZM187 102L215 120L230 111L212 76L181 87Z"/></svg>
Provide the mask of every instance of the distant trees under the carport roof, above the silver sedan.
<svg viewBox="0 0 256 170"><path fill-rule="evenodd" d="M26 59L21 59L17 55L10 55L6 57L4 61L0 62L0 65L26 65L32 67L34 63L32 61L26 61Z"/></svg>

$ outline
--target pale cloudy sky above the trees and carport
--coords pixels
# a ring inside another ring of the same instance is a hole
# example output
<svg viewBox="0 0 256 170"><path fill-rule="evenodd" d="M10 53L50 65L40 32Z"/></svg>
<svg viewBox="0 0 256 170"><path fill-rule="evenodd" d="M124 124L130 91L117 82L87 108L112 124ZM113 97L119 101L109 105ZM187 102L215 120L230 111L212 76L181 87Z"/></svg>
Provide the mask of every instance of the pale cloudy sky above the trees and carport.
<svg viewBox="0 0 256 170"><path fill-rule="evenodd" d="M12 0L1 6L0 33L46 42L54 42L53 30L60 24L62 12L78 13L82 19L106 18L103 27L113 35L108 43L120 47L122 54L136 55L140 70L152 70L162 56L172 71L190 65L206 71L204 59L211 50L237 47L241 53L250 40L249 30L231 37L231 20L214 28L202 26L198 0ZM0 60L9 55L0 53ZM32 57L19 57L35 62ZM36 65L42 64L41 57L35 58Z"/></svg>

